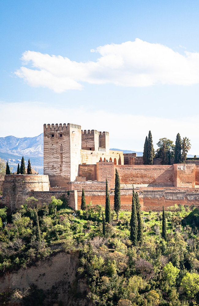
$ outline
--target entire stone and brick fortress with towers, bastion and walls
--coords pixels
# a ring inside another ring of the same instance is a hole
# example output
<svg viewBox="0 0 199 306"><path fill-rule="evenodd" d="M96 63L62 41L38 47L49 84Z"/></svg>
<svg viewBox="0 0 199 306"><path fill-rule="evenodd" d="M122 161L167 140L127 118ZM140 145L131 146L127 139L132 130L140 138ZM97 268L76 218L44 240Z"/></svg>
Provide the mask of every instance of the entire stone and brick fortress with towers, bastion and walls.
<svg viewBox="0 0 199 306"><path fill-rule="evenodd" d="M135 153L109 149L109 133L81 130L80 125L44 124L44 175L6 175L2 205L15 211L34 196L50 203L51 196L68 196L74 210L81 206L82 188L86 203L105 205L106 178L111 205L114 203L115 169L121 183L121 208L130 210L132 188L141 208L162 210L175 204L199 205L199 164L143 165Z"/></svg>

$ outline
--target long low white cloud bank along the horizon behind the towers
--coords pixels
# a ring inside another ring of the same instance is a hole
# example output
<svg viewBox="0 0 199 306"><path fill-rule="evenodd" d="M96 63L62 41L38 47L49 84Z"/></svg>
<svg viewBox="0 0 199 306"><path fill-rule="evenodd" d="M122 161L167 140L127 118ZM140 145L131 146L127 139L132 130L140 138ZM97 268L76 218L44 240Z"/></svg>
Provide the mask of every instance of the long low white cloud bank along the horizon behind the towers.
<svg viewBox="0 0 199 306"><path fill-rule="evenodd" d="M167 137L175 142L177 133L181 137L189 137L191 150L189 154L199 155L199 143L197 126L199 116L189 118L168 119L159 117L147 117L131 114L111 114L108 111L90 111L85 108L67 108L38 102L3 103L0 102L2 114L9 114L1 117L0 137L9 135L17 137L33 137L43 132L44 123L75 123L81 125L82 129L97 129L108 131L110 136L110 147L143 151L145 137L151 129L153 144L162 137ZM20 112L23 122L19 122L16 114ZM27 114L31 114L31 121Z"/></svg>

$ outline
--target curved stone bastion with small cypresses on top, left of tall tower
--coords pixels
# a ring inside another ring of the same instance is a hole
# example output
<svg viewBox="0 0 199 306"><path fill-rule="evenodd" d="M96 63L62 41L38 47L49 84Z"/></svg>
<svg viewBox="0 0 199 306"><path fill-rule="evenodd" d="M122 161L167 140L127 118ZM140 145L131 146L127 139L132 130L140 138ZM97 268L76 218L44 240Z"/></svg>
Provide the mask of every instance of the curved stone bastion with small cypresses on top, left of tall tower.
<svg viewBox="0 0 199 306"><path fill-rule="evenodd" d="M48 175L12 174L5 175L2 204L9 211L15 211L24 204L24 198L30 191L49 191Z"/></svg>

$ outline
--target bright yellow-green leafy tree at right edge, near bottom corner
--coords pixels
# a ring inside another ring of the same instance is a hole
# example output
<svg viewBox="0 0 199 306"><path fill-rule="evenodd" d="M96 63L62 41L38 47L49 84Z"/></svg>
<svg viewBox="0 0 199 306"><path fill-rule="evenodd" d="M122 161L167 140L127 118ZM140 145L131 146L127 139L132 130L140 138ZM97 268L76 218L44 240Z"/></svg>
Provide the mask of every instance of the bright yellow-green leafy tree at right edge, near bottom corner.
<svg viewBox="0 0 199 306"><path fill-rule="evenodd" d="M182 278L181 286L188 297L195 297L199 292L199 275L196 273L186 273Z"/></svg>

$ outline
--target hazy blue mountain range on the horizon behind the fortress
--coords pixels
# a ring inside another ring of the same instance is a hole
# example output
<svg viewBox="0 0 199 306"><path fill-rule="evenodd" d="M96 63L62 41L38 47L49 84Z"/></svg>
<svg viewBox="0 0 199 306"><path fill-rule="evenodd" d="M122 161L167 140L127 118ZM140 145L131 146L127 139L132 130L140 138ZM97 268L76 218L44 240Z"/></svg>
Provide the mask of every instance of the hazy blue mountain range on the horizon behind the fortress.
<svg viewBox="0 0 199 306"><path fill-rule="evenodd" d="M110 150L137 153L137 156L143 154L143 152L116 148ZM0 137L0 158L9 161L13 172L17 170L18 163L21 163L22 156L24 156L26 166L28 165L28 159L30 159L33 169L38 171L39 174L43 174L43 133L35 137ZM187 155L187 157L193 157L193 155ZM199 156L197 155L197 157Z"/></svg>

